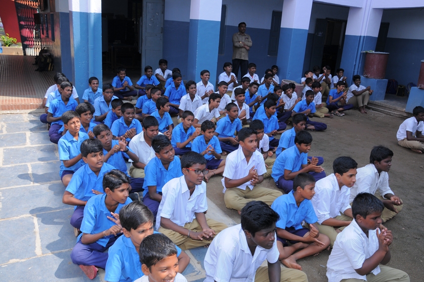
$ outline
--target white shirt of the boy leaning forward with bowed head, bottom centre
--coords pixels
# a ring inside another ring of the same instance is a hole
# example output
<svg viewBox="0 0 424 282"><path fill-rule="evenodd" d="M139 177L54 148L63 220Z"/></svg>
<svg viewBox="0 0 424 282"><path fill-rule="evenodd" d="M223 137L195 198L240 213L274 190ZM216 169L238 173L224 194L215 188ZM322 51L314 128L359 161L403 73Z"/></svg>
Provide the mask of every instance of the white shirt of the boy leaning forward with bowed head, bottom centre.
<svg viewBox="0 0 424 282"><path fill-rule="evenodd" d="M254 282L256 270L267 260L278 261L277 240L270 249L249 249L241 224L224 229L215 238L205 256L204 282Z"/></svg>

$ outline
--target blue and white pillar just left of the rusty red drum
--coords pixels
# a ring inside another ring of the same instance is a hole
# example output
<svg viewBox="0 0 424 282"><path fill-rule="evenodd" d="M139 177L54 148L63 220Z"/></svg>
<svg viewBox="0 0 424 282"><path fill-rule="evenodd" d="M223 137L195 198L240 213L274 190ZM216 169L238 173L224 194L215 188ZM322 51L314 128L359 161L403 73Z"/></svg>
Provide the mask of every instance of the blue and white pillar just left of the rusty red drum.
<svg viewBox="0 0 424 282"><path fill-rule="evenodd" d="M365 53L361 51L375 50L382 21L383 9L372 8L371 0L364 3L362 8L350 7L347 18L340 67L348 85L352 84L353 75L363 74Z"/></svg>

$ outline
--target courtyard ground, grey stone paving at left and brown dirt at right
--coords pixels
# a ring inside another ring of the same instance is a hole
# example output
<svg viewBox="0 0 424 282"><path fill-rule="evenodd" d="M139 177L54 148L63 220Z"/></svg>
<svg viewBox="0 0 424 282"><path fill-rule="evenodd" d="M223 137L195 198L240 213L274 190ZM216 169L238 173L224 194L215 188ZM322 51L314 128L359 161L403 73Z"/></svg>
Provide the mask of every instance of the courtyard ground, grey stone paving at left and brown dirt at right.
<svg viewBox="0 0 424 282"><path fill-rule="evenodd" d="M57 145L48 139L39 113L0 115L0 281L88 281L69 257L76 243L69 224L72 207L61 201L64 187L59 178ZM364 166L374 145L394 151L390 187L404 202L402 212L386 223L393 231L389 266L406 271L411 281L423 281L424 156L397 145L401 119L370 111L350 111L344 117L325 119L326 132L312 133L310 155L325 158L327 174L333 160L353 157ZM229 226L239 223L237 212L223 203L220 177L208 184L208 216ZM275 188L267 179L262 186ZM191 264L184 275L203 281L206 248L187 252ZM310 282L325 282L329 251L298 261ZM101 272L94 281L103 281Z"/></svg>

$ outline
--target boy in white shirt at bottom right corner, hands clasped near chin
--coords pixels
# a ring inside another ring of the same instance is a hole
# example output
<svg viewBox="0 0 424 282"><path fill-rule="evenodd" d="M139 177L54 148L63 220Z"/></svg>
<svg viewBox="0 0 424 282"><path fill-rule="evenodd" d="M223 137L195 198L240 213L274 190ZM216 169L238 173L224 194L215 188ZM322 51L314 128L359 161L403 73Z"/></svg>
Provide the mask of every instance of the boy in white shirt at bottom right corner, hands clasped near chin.
<svg viewBox="0 0 424 282"><path fill-rule="evenodd" d="M359 193L352 204L354 220L336 239L327 262L329 282L409 282L401 270L384 266L390 261L393 235L379 230L384 205L370 193ZM379 264L382 264L379 266Z"/></svg>

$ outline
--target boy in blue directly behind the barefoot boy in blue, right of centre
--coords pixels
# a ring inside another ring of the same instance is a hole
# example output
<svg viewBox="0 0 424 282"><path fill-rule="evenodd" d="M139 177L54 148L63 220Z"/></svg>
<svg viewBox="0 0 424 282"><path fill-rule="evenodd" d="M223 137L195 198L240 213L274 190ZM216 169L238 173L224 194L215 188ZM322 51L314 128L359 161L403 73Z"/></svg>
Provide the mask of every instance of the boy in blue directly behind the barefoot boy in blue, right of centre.
<svg viewBox="0 0 424 282"><path fill-rule="evenodd" d="M324 169L317 165L318 158L313 157L308 163L308 152L311 148L312 136L304 130L296 134L296 146L284 150L275 160L272 167L272 178L278 188L286 194L293 190L293 179L302 172L312 175L316 181L326 177Z"/></svg>

